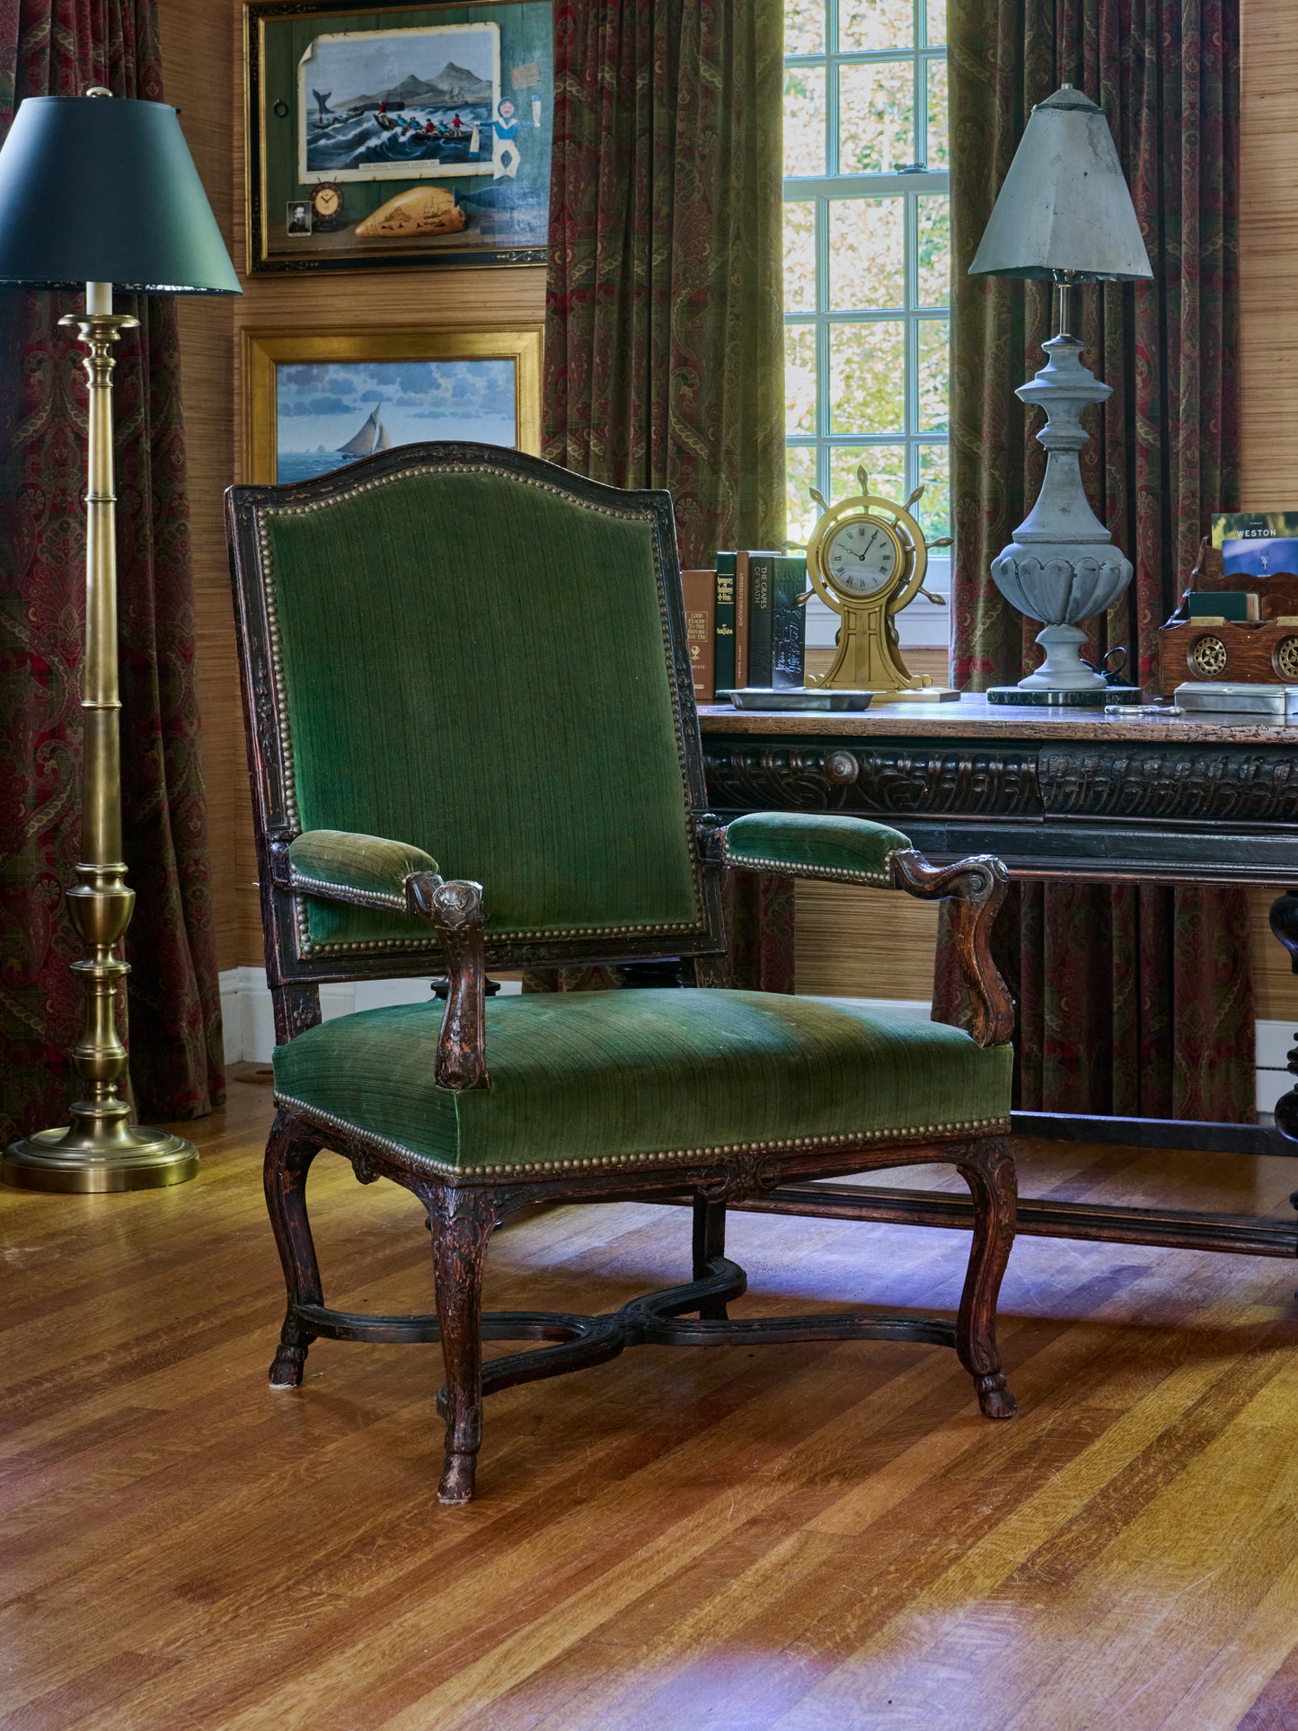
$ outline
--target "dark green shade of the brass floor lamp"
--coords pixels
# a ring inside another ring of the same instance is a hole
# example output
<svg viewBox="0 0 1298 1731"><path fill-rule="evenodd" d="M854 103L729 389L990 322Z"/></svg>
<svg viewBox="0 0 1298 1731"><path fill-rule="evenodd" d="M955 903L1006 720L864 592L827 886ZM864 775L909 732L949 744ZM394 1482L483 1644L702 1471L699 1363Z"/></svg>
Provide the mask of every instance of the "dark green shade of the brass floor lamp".
<svg viewBox="0 0 1298 1731"><path fill-rule="evenodd" d="M0 145L0 287L239 294L166 102L28 97Z"/></svg>

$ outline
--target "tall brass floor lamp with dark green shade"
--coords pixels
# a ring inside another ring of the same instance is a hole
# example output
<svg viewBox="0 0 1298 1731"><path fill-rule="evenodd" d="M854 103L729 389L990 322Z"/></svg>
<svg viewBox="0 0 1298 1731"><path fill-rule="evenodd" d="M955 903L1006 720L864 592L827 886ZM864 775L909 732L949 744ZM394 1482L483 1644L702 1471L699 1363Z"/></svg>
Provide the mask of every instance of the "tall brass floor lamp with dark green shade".
<svg viewBox="0 0 1298 1731"><path fill-rule="evenodd" d="M10 1144L0 1160L5 1184L45 1191L180 1184L199 1162L192 1142L132 1123L119 1094L126 1049L116 1002L128 966L114 952L135 891L126 888L121 859L112 350L138 320L112 312L112 289L241 289L177 111L111 97L102 87L83 97L28 97L0 145L0 289L85 284L85 313L59 322L87 344L90 381L81 859L67 891L88 950L73 962L87 990L85 1026L71 1054L81 1099L69 1106L66 1127Z"/></svg>

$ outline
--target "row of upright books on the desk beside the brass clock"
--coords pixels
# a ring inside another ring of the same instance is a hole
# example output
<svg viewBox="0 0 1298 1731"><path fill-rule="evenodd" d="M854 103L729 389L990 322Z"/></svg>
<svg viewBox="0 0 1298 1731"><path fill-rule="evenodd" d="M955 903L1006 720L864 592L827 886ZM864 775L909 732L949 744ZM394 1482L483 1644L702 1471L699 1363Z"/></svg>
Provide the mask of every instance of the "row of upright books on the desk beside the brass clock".
<svg viewBox="0 0 1298 1731"><path fill-rule="evenodd" d="M715 571L680 576L697 703L746 685L791 691L803 684L803 554L718 552Z"/></svg>

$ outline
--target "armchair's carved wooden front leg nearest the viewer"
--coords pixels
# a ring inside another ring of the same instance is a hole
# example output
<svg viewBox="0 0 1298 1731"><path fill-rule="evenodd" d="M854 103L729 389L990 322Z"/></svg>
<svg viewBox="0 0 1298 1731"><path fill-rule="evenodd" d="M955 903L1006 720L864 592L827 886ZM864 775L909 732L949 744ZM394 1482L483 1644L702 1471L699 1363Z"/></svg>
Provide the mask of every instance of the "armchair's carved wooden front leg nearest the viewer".
<svg viewBox="0 0 1298 1731"><path fill-rule="evenodd" d="M483 1265L497 1212L490 1191L447 1186L431 1196L429 1217L447 1366L447 1447L438 1503L469 1503L483 1444Z"/></svg>

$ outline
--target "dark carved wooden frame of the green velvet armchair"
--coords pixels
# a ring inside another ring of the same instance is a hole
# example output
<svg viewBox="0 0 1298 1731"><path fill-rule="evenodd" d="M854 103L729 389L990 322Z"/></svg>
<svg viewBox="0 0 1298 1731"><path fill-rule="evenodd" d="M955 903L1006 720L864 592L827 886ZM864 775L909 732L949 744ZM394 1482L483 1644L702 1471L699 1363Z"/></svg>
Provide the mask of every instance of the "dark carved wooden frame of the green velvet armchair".
<svg viewBox="0 0 1298 1731"><path fill-rule="evenodd" d="M545 968L587 962L678 959L685 985L720 985L725 968L725 930L720 881L729 869L725 829L706 810L703 753L694 687L685 646L675 524L670 497L658 492L623 492L571 476L540 459L479 445L417 445L351 464L318 479L287 486L235 486L227 493L227 530L239 623L249 774L256 820L261 914L267 940L267 975L275 1004L275 1040L286 1044L320 1021L320 983L334 980L422 976L426 950L402 954L312 957L299 947L289 843L294 840L286 789L289 744L277 701L275 634L261 573L258 516L267 509L315 505L344 497L360 485L382 481L412 467L440 469L490 466L533 485L545 485L602 511L649 519L665 609L665 640L671 701L677 711L691 829L703 917L697 928L656 936L614 940L564 938L500 942L483 926L483 890L469 881L443 881L414 872L407 883L407 911L426 919L440 940L447 968L445 1013L436 1049L436 1085L479 1089L490 1085L485 1030L488 968ZM779 862L798 876L798 867ZM836 876L824 867L810 876ZM860 872L845 872L845 881ZM1004 900L1007 872L1000 860L971 857L931 866L914 850L890 855L891 888L924 900L950 900L952 931L969 992L971 1032L980 1046L1009 1040L1012 1001L990 954L990 931ZM346 895L339 895L346 900ZM360 898L358 905L363 905ZM427 930L427 928L424 928ZM447 1421L440 1501L466 1503L472 1496L481 1444L483 1397L512 1383L559 1376L616 1357L630 1345L742 1345L817 1340L916 1340L954 1347L973 1376L978 1402L988 1418L1009 1418L1014 1399L1000 1369L995 1340L995 1302L1014 1238L1016 1181L1006 1141L1009 1123L983 1122L935 1134L917 1130L905 1139L848 1141L820 1146L815 1139L789 1139L779 1146L727 1146L640 1162L599 1158L556 1162L549 1168L476 1168L472 1174L434 1172L355 1127L327 1122L301 1104L280 1103L265 1158L267 1207L287 1284L287 1312L270 1369L273 1388L294 1388L303 1380L308 1347L317 1338L369 1342L440 1342L447 1383L438 1411ZM306 1213L306 1175L322 1149L350 1160L362 1184L388 1177L408 1189L427 1212L433 1234L436 1314L350 1314L324 1302ZM727 1203L765 1196L791 1177L800 1181L843 1177L867 1170L950 1163L967 1182L974 1201L974 1232L967 1274L955 1321L909 1316L846 1314L760 1321L732 1319L727 1305L746 1290L744 1271L725 1257ZM481 1283L486 1245L495 1227L535 1203L576 1201L680 1201L692 1200L692 1279L623 1305L611 1316L549 1312L483 1314ZM543 1342L538 1350L483 1362L483 1340Z"/></svg>

